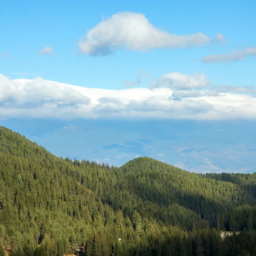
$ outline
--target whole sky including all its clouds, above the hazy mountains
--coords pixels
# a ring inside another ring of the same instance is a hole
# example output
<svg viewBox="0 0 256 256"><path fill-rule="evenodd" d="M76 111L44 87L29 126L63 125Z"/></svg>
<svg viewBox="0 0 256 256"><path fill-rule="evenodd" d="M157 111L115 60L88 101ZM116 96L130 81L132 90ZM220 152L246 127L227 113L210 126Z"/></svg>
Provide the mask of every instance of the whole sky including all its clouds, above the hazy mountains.
<svg viewBox="0 0 256 256"><path fill-rule="evenodd" d="M4 1L0 117L253 119L255 9L253 0Z"/></svg>

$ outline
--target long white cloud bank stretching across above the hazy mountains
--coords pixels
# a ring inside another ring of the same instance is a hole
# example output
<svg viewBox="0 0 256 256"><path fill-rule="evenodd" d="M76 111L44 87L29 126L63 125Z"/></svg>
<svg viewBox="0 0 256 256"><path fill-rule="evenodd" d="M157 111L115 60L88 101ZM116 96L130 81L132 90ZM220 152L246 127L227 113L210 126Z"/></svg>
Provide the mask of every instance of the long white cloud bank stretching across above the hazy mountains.
<svg viewBox="0 0 256 256"><path fill-rule="evenodd" d="M256 100L248 95L254 88L209 90L204 74L163 78L172 80L168 88L105 90L0 74L0 113L6 118L256 119Z"/></svg>

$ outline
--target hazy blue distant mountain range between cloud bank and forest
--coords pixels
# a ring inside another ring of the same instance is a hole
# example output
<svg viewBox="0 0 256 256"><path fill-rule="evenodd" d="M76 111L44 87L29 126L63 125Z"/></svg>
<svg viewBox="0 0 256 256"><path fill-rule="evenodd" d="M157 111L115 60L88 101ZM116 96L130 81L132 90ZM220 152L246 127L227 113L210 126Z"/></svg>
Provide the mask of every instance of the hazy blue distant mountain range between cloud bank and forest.
<svg viewBox="0 0 256 256"><path fill-rule="evenodd" d="M0 121L59 157L121 166L147 156L192 172L256 172L255 121Z"/></svg>

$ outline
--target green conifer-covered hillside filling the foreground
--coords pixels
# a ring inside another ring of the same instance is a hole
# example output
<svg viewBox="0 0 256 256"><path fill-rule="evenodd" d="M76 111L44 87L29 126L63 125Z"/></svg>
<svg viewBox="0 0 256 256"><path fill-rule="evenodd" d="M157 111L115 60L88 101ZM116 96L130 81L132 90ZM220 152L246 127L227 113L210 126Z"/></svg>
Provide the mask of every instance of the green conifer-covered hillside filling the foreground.
<svg viewBox="0 0 256 256"><path fill-rule="evenodd" d="M72 161L0 127L0 256L256 255L255 229L256 173Z"/></svg>

